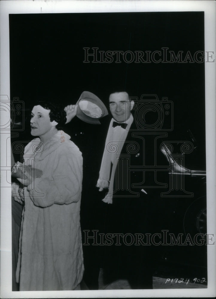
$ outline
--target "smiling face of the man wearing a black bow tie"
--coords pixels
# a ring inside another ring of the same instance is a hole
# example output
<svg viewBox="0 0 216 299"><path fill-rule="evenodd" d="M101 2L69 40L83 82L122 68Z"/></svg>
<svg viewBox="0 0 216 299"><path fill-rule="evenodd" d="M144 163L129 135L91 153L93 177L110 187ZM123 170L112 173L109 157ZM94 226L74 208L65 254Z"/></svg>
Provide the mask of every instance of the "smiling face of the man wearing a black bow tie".
<svg viewBox="0 0 216 299"><path fill-rule="evenodd" d="M130 117L130 101L126 92L116 92L109 96L109 109L112 117L119 123Z"/></svg>

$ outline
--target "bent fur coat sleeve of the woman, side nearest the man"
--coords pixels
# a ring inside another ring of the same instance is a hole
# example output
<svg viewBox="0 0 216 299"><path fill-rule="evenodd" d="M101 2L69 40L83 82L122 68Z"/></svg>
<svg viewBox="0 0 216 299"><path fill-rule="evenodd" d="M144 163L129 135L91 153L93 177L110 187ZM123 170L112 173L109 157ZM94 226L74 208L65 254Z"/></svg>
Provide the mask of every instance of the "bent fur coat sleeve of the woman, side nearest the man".
<svg viewBox="0 0 216 299"><path fill-rule="evenodd" d="M54 157L51 177L45 174L28 186L29 196L36 206L78 202L82 191L82 154L77 149L61 150ZM44 193L44 196L40 196Z"/></svg>

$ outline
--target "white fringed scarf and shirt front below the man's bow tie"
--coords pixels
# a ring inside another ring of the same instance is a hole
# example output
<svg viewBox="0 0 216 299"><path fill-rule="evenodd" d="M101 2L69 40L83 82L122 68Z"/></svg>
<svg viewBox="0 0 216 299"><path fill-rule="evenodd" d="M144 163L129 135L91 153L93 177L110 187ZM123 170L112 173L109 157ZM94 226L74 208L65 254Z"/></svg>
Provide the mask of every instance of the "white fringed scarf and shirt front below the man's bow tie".
<svg viewBox="0 0 216 299"><path fill-rule="evenodd" d="M99 179L96 185L96 187L103 189L109 188L105 198L102 199L103 202L107 202L108 204L112 204L115 169L118 164L118 159L121 154L124 141L126 140L130 126L133 123L133 116L132 114L130 114L130 118L125 122L127 123L126 129L122 129L121 126L116 126L115 128L113 128L113 121L115 120L112 118L107 132L104 154L101 161L101 169L99 172ZM113 165L110 175L111 162Z"/></svg>

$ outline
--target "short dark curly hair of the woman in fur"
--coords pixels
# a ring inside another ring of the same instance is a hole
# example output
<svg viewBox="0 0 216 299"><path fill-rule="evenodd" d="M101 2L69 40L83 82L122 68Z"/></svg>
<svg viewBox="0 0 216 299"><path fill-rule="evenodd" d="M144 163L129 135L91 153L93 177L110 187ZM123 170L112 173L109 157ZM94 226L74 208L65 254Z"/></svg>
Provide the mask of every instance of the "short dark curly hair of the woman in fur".
<svg viewBox="0 0 216 299"><path fill-rule="evenodd" d="M52 104L48 101L36 101L34 102L34 106L40 105L44 109L50 110L49 117L50 121L55 120L58 124L56 125L56 129L60 130L66 123L66 112L61 109L58 105Z"/></svg>

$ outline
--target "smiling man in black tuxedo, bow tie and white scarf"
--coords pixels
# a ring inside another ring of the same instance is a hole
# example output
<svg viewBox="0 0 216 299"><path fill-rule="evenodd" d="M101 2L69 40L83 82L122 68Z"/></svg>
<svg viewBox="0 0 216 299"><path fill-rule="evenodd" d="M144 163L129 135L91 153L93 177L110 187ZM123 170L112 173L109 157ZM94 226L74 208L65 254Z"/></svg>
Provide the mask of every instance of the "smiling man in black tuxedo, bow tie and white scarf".
<svg viewBox="0 0 216 299"><path fill-rule="evenodd" d="M152 208L147 192L135 186L145 178L144 139L136 128L133 106L127 92L110 94L112 120L97 182L106 205L104 233L113 237L103 254L104 279L126 278L132 289L152 289L152 246L137 240L151 230Z"/></svg>

